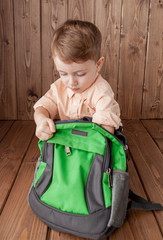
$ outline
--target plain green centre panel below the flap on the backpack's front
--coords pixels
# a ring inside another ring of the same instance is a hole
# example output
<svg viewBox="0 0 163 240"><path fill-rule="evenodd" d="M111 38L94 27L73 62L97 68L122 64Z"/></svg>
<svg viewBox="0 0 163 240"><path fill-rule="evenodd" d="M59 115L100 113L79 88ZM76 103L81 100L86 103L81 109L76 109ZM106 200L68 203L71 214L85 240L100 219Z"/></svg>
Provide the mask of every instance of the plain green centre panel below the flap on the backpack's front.
<svg viewBox="0 0 163 240"><path fill-rule="evenodd" d="M95 153L55 144L53 177L41 201L59 210L89 214L85 186ZM80 158L79 158L80 156Z"/></svg>

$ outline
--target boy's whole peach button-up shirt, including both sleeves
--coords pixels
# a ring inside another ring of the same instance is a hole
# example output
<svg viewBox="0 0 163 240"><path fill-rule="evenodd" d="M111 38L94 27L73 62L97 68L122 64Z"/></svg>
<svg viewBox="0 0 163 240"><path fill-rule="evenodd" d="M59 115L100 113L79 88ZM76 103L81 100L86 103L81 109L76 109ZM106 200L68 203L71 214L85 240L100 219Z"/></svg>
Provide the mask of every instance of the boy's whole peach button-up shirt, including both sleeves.
<svg viewBox="0 0 163 240"><path fill-rule="evenodd" d="M61 120L89 116L99 125L108 125L115 129L122 126L119 105L109 83L101 75L82 93L75 93L61 79L56 80L36 102L34 109L40 106L49 112L51 119L55 119L57 115Z"/></svg>

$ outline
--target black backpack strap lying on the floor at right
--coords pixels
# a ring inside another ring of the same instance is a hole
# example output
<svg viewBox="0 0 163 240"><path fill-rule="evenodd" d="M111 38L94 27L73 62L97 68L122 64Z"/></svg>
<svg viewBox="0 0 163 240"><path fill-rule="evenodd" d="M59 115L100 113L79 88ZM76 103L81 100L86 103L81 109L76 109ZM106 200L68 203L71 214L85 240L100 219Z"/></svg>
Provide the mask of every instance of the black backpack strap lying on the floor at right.
<svg viewBox="0 0 163 240"><path fill-rule="evenodd" d="M139 209L139 210L163 210L163 206L159 203L152 203L146 199L136 195L131 190L129 190L129 199L127 209Z"/></svg>

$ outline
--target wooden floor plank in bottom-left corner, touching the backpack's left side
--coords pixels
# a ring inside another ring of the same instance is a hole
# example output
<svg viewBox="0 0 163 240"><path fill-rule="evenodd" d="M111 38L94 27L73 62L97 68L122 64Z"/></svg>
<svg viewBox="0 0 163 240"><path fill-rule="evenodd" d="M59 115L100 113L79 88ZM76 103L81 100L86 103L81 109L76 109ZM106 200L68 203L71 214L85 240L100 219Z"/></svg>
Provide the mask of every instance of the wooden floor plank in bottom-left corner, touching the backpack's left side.
<svg viewBox="0 0 163 240"><path fill-rule="evenodd" d="M46 240L47 226L34 215L27 203L33 176L32 162L23 163L1 215L1 239Z"/></svg>

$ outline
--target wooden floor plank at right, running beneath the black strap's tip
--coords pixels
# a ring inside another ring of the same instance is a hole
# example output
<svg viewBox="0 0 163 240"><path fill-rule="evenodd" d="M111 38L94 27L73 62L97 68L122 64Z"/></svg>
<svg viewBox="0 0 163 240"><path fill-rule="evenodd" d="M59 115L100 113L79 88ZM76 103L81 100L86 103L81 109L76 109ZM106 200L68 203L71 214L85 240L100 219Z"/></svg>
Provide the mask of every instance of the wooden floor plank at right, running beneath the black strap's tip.
<svg viewBox="0 0 163 240"><path fill-rule="evenodd" d="M148 198L163 203L163 156L140 121L124 121L129 149ZM163 211L155 211L163 232Z"/></svg>

